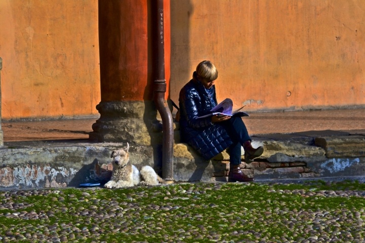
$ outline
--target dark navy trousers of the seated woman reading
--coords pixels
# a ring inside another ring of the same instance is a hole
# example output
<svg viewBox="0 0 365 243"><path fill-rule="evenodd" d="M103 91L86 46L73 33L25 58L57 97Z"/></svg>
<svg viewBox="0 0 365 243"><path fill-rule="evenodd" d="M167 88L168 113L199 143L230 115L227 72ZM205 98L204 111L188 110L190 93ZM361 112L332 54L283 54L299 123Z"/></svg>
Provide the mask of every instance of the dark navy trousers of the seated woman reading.
<svg viewBox="0 0 365 243"><path fill-rule="evenodd" d="M222 126L233 141L233 144L229 147L230 164L240 165L241 146L245 141L251 141L247 128L239 116L232 116L231 119L223 121Z"/></svg>

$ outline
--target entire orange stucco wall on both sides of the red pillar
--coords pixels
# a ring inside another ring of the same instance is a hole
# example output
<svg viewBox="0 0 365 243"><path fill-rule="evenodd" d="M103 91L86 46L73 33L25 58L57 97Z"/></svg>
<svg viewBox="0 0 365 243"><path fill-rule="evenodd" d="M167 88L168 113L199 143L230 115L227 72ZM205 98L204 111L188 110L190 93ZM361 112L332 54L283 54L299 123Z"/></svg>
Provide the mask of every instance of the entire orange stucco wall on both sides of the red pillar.
<svg viewBox="0 0 365 243"><path fill-rule="evenodd" d="M365 105L364 1L171 0L169 7L166 79L175 102L196 65L211 60L218 100L230 97L236 107ZM97 0L0 0L0 24L3 119L98 115Z"/></svg>

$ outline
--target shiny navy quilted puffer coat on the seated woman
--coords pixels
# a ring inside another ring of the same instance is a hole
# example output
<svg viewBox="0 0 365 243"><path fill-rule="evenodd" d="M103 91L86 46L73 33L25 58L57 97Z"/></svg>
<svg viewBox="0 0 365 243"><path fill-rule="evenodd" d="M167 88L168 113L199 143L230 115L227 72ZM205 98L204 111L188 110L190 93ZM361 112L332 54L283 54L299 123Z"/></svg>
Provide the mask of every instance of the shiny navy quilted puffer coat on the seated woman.
<svg viewBox="0 0 365 243"><path fill-rule="evenodd" d="M208 160L233 144L226 130L219 124L211 123L211 117L197 118L209 114L216 104L215 87L212 104L204 86L198 81L196 72L180 91L180 132L184 142L196 149Z"/></svg>

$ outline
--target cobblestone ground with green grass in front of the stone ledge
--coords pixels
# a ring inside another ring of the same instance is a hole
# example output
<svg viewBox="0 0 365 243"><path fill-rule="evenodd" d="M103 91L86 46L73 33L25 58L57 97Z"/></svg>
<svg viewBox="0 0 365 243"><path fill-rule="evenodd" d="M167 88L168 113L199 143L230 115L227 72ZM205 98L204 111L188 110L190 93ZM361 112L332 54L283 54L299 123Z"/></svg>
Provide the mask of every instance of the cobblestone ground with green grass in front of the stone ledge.
<svg viewBox="0 0 365 243"><path fill-rule="evenodd" d="M3 242L362 242L365 185L186 183L0 191Z"/></svg>

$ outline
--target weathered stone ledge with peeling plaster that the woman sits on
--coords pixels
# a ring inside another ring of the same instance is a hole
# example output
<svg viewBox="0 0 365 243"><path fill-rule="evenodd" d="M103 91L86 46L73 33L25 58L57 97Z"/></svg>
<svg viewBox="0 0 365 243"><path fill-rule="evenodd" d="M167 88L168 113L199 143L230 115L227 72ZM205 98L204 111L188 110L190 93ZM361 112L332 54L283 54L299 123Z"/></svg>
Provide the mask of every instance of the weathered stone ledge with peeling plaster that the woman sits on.
<svg viewBox="0 0 365 243"><path fill-rule="evenodd" d="M319 137L317 144L320 146L309 145L306 139L300 143L255 139L253 145L264 146L265 152L251 164L242 163L242 168L257 180L365 175L362 153L336 154L339 157L327 154L329 148L336 151L336 146L342 146L341 141L354 146L357 143L359 149L363 148L363 136L348 139L347 136ZM106 181L111 175L111 152L124 146L80 141L6 143L0 148L0 188L77 187L81 183ZM161 174L161 151L161 145L131 144L131 163L137 168L150 165ZM189 145L175 143L173 156L176 182L211 182L228 175L229 154L226 151L205 161Z"/></svg>

